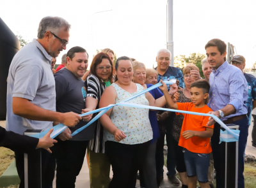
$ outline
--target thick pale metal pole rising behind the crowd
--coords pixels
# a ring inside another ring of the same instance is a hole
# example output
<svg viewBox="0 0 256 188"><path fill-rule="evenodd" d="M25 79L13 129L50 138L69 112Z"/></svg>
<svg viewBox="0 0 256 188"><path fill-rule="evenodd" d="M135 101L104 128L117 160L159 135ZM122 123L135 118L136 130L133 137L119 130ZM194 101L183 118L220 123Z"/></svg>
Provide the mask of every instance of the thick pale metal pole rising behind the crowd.
<svg viewBox="0 0 256 188"><path fill-rule="evenodd" d="M173 62L173 0L167 0L167 49L172 53L170 66Z"/></svg>

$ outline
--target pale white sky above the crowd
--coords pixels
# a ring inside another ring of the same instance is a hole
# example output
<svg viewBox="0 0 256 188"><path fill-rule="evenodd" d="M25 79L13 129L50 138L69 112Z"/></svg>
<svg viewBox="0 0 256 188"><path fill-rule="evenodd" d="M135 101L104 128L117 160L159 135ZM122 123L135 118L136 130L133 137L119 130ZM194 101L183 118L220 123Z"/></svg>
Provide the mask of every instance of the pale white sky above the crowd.
<svg viewBox="0 0 256 188"><path fill-rule="evenodd" d="M97 49L111 48L156 67L156 54L166 48L166 0L1 1L0 17L14 34L32 41L45 16L65 18L70 24L67 50L85 48L92 62ZM173 55L205 54L205 44L220 38L236 47L246 67L256 61L255 0L173 0ZM100 12L99 11L104 11Z"/></svg>

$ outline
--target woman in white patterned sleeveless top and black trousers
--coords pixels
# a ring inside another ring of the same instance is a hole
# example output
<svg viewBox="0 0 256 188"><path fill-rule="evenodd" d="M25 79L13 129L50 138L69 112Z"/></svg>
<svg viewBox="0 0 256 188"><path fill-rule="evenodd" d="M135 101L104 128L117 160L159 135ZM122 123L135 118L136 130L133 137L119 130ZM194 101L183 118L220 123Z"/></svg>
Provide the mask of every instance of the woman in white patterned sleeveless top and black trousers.
<svg viewBox="0 0 256 188"><path fill-rule="evenodd" d="M99 108L124 101L145 89L132 82L133 69L129 57L119 57L115 70L116 82L104 90ZM166 100L155 100L147 92L128 103L162 107ZM105 128L106 154L113 168L113 179L109 187L135 187L136 173L153 138L148 109L114 106L100 117L100 122Z"/></svg>

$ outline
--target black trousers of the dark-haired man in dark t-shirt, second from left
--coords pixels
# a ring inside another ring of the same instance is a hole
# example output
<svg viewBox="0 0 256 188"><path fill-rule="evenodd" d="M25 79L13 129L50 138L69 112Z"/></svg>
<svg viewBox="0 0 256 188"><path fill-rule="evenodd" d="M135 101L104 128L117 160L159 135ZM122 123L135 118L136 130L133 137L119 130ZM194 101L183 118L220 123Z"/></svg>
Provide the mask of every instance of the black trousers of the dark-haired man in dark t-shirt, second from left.
<svg viewBox="0 0 256 188"><path fill-rule="evenodd" d="M56 188L75 187L76 177L83 166L88 141L61 141L52 148L56 157Z"/></svg>

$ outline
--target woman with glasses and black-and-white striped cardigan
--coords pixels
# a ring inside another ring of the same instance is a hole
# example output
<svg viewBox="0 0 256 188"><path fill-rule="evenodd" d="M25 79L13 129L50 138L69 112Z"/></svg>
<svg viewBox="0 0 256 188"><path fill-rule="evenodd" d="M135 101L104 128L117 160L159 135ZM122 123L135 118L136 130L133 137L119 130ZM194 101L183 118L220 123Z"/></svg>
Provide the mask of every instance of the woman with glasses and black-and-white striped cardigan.
<svg viewBox="0 0 256 188"><path fill-rule="evenodd" d="M90 75L86 78L86 108L99 108L99 101L103 91L113 83L113 63L106 53L100 52L93 58ZM86 111L87 112L87 111ZM95 114L96 115L96 114ZM93 140L88 144L90 187L108 187L110 163L105 154L104 129L99 120L95 121Z"/></svg>

